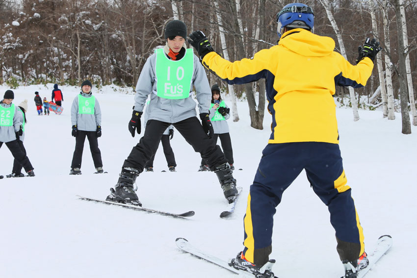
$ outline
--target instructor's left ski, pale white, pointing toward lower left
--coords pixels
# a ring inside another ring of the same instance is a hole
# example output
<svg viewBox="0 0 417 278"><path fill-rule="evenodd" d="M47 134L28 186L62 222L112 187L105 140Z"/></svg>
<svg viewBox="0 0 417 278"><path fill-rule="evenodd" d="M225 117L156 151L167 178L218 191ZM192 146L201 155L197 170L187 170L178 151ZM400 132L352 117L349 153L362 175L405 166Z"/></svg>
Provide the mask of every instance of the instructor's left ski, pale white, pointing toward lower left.
<svg viewBox="0 0 417 278"><path fill-rule="evenodd" d="M177 244L177 247L180 248L182 251L189 253L191 255L194 255L200 259L204 259L210 263L213 263L215 265L218 265L224 269L229 270L230 272L233 272L237 275L239 275L239 277L244 277L244 278L255 278L254 275L252 275L249 272L243 271L243 270L238 270L235 269L234 267L231 267L229 265L229 263L225 260L222 260L218 257L203 253L202 251L198 250L197 248L195 248L192 244L190 244L188 242L188 240L186 240L185 238L179 237L175 240L175 243Z"/></svg>

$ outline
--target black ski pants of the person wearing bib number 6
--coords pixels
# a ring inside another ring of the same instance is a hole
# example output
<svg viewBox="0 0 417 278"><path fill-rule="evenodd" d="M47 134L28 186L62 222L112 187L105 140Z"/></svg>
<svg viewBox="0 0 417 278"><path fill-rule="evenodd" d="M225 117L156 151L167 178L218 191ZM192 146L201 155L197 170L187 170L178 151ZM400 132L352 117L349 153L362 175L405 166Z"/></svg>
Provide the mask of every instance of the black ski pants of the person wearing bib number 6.
<svg viewBox="0 0 417 278"><path fill-rule="evenodd" d="M75 151L73 155L73 161L71 162L71 168L81 168L85 136L87 136L88 143L90 143L90 152L93 156L94 167L103 167L102 153L99 149L99 141L97 140L96 131L78 130L78 135L75 138Z"/></svg>

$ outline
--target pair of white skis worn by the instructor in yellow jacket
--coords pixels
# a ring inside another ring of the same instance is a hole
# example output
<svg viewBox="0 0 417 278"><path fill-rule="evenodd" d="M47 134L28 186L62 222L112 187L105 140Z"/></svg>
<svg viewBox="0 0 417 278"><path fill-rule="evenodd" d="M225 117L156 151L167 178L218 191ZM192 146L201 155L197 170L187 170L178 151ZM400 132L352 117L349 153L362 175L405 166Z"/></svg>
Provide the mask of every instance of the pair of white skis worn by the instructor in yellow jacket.
<svg viewBox="0 0 417 278"><path fill-rule="evenodd" d="M189 243L188 240L186 240L185 238L177 238L175 241L176 241L177 247L181 249L183 252L192 254L200 259L204 259L210 263L213 263L224 269L227 269L230 272L233 272L234 274L239 275L239 277L257 278L255 275L249 272L235 269L234 267L230 266L229 263L225 260L222 260L218 257L212 256L208 253L200 251L198 248L194 247L191 243ZM388 250L390 250L391 246L392 246L392 238L390 235L380 236L376 243L375 249L373 250L372 254L368 256L368 260L369 260L368 266L359 271L358 278L364 278L366 273L368 273L368 271L372 269L372 267L376 264L376 262L385 253L387 253Z"/></svg>

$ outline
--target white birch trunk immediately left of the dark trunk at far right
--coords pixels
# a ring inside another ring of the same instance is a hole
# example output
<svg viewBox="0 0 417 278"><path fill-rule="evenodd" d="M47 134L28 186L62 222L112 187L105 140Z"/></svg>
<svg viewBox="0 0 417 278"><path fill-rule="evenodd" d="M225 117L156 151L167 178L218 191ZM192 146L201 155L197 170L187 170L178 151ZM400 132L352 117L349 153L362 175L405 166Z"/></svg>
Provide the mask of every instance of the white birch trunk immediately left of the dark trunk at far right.
<svg viewBox="0 0 417 278"><path fill-rule="evenodd" d="M387 78L387 97L388 97L388 120L395 120L394 111L394 92L392 89L392 63L388 53L391 53L390 43L390 22L388 21L388 1L384 0L382 16L384 17L384 43L385 43L385 76Z"/></svg>

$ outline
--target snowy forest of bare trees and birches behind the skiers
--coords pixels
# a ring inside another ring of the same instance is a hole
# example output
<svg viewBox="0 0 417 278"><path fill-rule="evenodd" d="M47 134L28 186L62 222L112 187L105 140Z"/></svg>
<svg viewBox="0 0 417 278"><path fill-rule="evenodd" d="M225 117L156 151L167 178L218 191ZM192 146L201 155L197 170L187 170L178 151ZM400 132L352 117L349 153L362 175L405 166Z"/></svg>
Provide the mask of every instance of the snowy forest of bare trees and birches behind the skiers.
<svg viewBox="0 0 417 278"><path fill-rule="evenodd" d="M99 88L136 85L146 59L165 44L172 19L188 33L202 30L215 51L231 61L250 58L277 44L276 14L291 1L280 0L0 0L0 84L79 85L88 78ZM332 37L336 51L356 64L358 46L375 37L383 50L360 89L337 87L335 98L353 108L381 109L402 133L417 125L417 0L306 0L314 11L314 33ZM302 67L303 65L294 65ZM247 99L251 126L262 129L265 84L227 86L208 73L209 82ZM383 84L383 86L381 86ZM411 115L410 115L411 112ZM410 116L412 121L410 121Z"/></svg>

